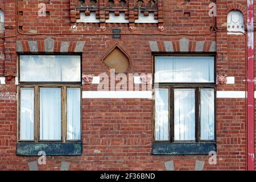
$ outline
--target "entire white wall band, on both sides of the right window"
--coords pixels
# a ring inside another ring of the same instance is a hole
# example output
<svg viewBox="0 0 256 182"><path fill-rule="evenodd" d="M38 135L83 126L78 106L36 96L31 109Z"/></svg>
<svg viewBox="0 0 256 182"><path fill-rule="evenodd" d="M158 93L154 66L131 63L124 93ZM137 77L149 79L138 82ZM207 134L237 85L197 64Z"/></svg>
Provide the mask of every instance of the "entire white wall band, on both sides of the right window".
<svg viewBox="0 0 256 182"><path fill-rule="evenodd" d="M254 92L256 98L256 91ZM151 91L82 91L82 98L147 98ZM245 91L217 91L217 98L245 98Z"/></svg>

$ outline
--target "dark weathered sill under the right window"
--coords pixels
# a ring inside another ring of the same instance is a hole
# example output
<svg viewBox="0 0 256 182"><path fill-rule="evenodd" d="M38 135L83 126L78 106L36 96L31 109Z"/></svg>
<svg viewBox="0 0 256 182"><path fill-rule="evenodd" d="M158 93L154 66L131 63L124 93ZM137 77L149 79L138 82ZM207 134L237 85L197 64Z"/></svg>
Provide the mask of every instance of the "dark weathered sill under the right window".
<svg viewBox="0 0 256 182"><path fill-rule="evenodd" d="M216 143L153 143L152 155L208 155L216 151Z"/></svg>

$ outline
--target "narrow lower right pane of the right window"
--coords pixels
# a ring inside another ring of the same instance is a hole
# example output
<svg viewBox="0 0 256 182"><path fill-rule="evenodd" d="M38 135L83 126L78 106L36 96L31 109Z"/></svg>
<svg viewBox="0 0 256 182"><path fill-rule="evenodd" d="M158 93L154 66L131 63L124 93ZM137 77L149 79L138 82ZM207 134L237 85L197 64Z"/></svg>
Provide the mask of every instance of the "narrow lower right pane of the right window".
<svg viewBox="0 0 256 182"><path fill-rule="evenodd" d="M200 90L200 139L214 140L214 89Z"/></svg>

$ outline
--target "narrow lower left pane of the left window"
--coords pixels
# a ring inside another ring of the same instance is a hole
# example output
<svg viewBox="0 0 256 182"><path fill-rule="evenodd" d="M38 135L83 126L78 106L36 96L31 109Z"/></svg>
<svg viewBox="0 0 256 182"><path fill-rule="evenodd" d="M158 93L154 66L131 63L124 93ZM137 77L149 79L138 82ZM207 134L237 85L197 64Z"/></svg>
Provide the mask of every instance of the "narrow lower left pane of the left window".
<svg viewBox="0 0 256 182"><path fill-rule="evenodd" d="M34 140L34 88L20 88L20 140Z"/></svg>

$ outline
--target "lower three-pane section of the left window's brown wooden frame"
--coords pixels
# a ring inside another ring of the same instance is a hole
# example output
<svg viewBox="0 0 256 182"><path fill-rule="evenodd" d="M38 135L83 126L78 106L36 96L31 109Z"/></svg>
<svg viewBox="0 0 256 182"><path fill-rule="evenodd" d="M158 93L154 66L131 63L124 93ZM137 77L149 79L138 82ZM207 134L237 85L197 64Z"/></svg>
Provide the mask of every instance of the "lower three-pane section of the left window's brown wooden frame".
<svg viewBox="0 0 256 182"><path fill-rule="evenodd" d="M34 140L21 140L20 139L20 89L21 88L34 88ZM40 140L40 88L60 88L61 89L61 139L60 140ZM79 88L80 98L82 98L81 85L19 85L19 142L81 142L81 126L82 126L82 110L80 109L80 139L79 140L67 140L67 89L68 88ZM80 108L82 108L82 102L80 99Z"/></svg>

